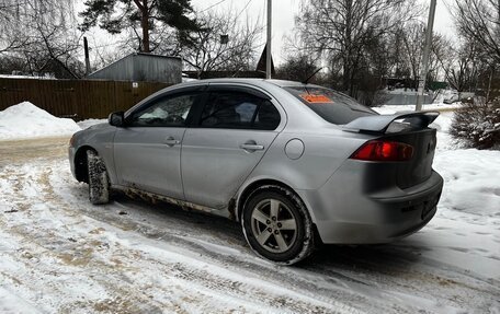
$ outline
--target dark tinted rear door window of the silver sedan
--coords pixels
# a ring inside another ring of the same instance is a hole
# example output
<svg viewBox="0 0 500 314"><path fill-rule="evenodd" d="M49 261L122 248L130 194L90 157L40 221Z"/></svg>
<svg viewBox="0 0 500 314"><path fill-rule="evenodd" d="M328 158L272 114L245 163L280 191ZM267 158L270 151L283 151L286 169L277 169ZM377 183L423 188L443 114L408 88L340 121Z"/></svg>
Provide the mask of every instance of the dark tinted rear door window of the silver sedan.
<svg viewBox="0 0 500 314"><path fill-rule="evenodd" d="M212 92L201 126L211 128L274 130L280 112L268 101L241 92Z"/></svg>

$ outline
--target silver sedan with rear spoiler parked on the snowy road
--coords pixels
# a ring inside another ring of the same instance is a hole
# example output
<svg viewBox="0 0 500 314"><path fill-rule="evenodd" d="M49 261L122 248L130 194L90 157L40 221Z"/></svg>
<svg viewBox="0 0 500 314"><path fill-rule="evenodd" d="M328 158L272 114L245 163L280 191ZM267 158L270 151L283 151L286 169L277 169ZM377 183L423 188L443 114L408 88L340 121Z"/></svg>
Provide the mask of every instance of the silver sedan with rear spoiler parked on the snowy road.
<svg viewBox="0 0 500 314"><path fill-rule="evenodd" d="M77 132L69 161L92 203L118 189L224 216L258 255L291 265L318 242L386 243L432 219L436 117L378 115L298 82L206 80Z"/></svg>

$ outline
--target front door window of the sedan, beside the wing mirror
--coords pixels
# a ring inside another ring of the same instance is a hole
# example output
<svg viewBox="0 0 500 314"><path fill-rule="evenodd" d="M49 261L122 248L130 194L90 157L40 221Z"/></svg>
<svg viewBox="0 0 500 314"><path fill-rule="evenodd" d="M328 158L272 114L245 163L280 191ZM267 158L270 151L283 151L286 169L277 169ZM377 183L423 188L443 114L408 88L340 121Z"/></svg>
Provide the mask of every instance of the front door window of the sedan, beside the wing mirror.
<svg viewBox="0 0 500 314"><path fill-rule="evenodd" d="M182 127L198 93L164 96L132 114L133 127Z"/></svg>

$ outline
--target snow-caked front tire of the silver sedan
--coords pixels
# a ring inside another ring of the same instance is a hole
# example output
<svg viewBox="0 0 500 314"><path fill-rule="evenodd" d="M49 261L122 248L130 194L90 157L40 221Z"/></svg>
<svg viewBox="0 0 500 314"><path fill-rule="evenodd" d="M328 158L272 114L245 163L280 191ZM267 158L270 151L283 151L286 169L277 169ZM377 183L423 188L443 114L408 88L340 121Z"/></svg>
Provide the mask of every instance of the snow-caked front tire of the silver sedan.
<svg viewBox="0 0 500 314"><path fill-rule="evenodd" d="M89 200L93 205L110 202L110 183L104 161L94 151L87 151Z"/></svg>

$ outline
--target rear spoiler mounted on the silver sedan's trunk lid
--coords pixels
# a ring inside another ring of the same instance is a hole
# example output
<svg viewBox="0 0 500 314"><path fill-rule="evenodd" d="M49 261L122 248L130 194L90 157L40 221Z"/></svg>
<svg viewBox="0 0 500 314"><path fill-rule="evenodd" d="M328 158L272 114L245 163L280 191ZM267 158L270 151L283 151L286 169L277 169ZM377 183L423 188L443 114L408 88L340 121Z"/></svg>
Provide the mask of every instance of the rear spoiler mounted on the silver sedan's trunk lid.
<svg viewBox="0 0 500 314"><path fill-rule="evenodd" d="M394 115L374 115L360 117L343 126L350 132L385 133L395 120L402 120L412 127L424 129L438 118L439 112L397 113Z"/></svg>

